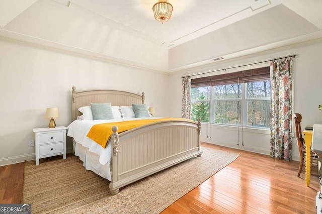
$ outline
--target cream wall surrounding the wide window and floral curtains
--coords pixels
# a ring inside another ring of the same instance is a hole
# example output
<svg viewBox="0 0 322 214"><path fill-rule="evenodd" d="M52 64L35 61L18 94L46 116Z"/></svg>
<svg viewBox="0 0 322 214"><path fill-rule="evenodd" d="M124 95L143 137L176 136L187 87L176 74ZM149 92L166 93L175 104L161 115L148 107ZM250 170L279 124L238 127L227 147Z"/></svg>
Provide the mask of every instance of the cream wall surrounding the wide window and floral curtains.
<svg viewBox="0 0 322 214"><path fill-rule="evenodd" d="M293 54L296 54L293 66L293 113L300 113L302 115L302 129L307 125L322 124L322 111L319 111L317 108L317 106L322 103L322 39L273 49L258 54L240 57L234 60L222 61L213 65L206 65L171 73L170 90L172 96L170 97L170 103L174 110L171 112L171 117L181 116L182 76L246 65ZM262 63L260 66L265 65L268 66L269 62ZM250 69L251 67L254 66L246 66L238 69ZM226 72L232 72L238 69L228 69ZM210 74L214 75L216 73L220 74L223 72L224 71L218 71ZM207 132L208 129L209 132ZM211 138L207 138L207 135ZM244 146L241 145L243 138ZM236 128L233 127L218 125L211 125L208 127L207 124L203 124L201 140L203 142L254 151L262 154L269 154L270 151L270 133L269 131L263 130L244 128L243 136L241 128L239 128L238 135ZM239 146L237 143L239 143ZM298 147L295 138L293 138L292 159L299 160Z"/></svg>

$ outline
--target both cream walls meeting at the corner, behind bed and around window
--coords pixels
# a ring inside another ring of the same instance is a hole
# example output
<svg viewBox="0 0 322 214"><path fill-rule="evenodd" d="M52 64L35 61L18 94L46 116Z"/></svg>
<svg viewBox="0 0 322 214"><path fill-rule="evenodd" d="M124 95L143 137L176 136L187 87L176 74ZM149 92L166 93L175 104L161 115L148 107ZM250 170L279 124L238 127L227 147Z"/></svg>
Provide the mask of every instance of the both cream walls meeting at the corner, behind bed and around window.
<svg viewBox="0 0 322 214"><path fill-rule="evenodd" d="M57 126L70 123L71 86L78 90L106 88L138 94L144 91L146 103L156 108L155 116L181 117L182 76L292 54L297 54L293 72L294 112L302 114L302 127L322 124L322 111L317 109L322 103L322 39L170 74L0 39L0 165L34 158L34 147L28 147L28 141L33 139L33 128L48 126L49 120L44 118L47 107L59 108ZM260 66L264 64L268 62ZM239 128L237 135L232 127L211 125L209 133L207 128L207 124L202 126L204 142L269 154L269 131L244 128L243 135ZM298 160L295 139L292 155Z"/></svg>

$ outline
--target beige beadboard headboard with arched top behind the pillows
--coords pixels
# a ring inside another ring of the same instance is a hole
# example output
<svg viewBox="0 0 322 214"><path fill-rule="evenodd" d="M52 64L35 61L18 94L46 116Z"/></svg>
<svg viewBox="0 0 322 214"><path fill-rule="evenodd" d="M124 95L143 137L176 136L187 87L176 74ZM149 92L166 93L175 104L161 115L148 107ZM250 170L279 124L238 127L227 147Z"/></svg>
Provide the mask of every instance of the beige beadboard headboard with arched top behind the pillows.
<svg viewBox="0 0 322 214"><path fill-rule="evenodd" d="M76 87L71 91L71 120L81 116L78 108L90 106L93 103L111 102L112 105L131 106L132 104L144 104L144 92L142 95L118 90L89 90L76 92Z"/></svg>

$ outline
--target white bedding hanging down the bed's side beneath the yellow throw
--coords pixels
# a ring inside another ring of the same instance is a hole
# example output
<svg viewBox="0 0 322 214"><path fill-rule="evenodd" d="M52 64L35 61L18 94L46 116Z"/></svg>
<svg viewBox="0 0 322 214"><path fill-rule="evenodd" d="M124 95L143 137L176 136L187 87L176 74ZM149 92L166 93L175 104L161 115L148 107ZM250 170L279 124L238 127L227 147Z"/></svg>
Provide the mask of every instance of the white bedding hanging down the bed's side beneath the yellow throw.
<svg viewBox="0 0 322 214"><path fill-rule="evenodd" d="M73 138L75 155L84 162L86 169L94 171L100 176L111 180L110 161L112 158L111 144L106 148L87 137L92 126L102 123L114 123L120 121L144 120L156 118L122 118L113 120L75 120L67 126L67 136ZM79 144L79 145L77 145ZM89 152L87 152L87 150ZM108 170L106 170L108 169Z"/></svg>

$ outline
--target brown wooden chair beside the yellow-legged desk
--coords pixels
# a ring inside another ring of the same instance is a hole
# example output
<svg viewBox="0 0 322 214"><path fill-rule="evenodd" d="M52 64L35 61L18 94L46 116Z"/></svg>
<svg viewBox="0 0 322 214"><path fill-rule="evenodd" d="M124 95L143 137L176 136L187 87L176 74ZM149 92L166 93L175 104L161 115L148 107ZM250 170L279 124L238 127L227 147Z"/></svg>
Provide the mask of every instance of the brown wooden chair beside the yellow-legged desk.
<svg viewBox="0 0 322 214"><path fill-rule="evenodd" d="M296 128L296 140L297 140L298 150L300 153L300 165L298 167L298 173L297 173L297 177L299 177L302 171L302 167L303 167L303 163L306 155L305 141L304 141L304 138L302 137L302 129L301 129L301 122L302 122L301 114L295 113L294 121L295 121L295 128ZM311 155L311 163L312 163L313 158L316 158L316 154L311 151L309 155Z"/></svg>

